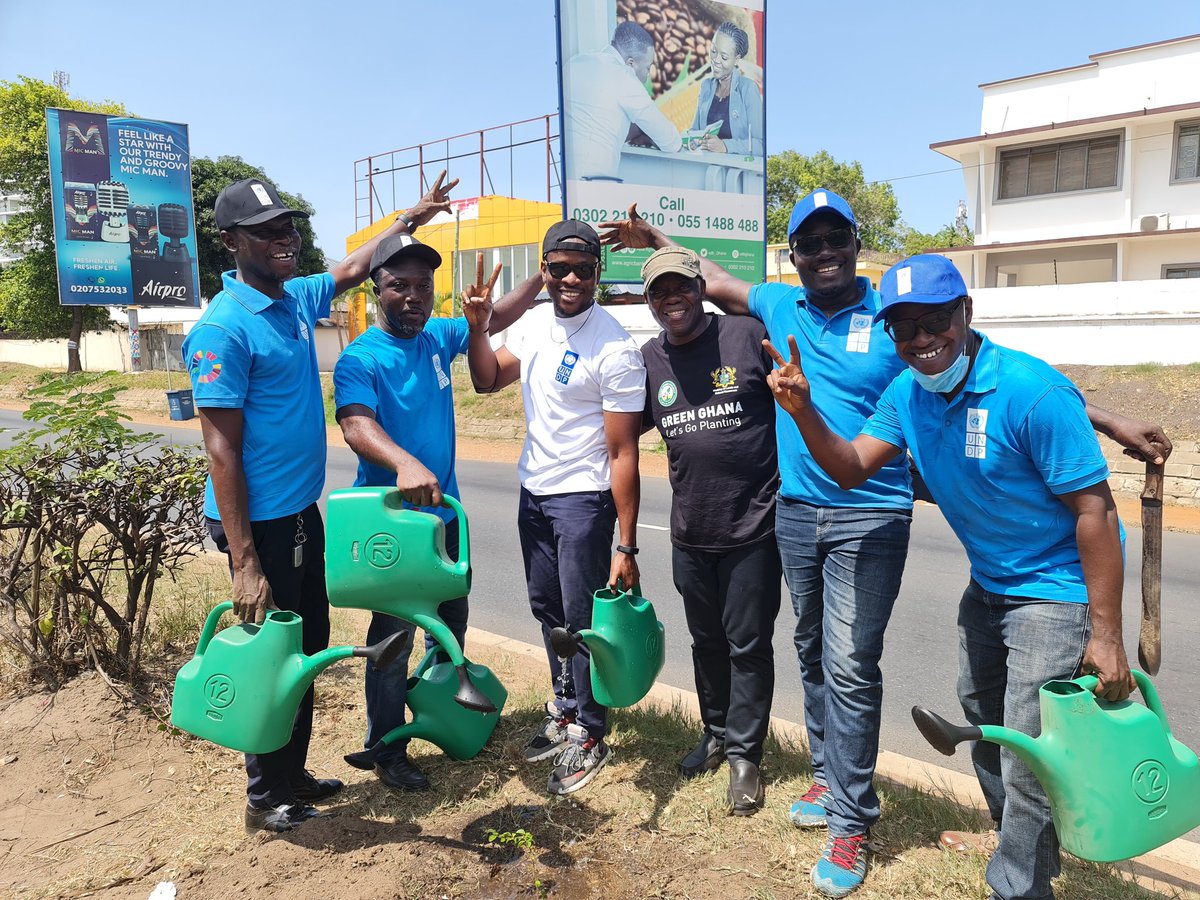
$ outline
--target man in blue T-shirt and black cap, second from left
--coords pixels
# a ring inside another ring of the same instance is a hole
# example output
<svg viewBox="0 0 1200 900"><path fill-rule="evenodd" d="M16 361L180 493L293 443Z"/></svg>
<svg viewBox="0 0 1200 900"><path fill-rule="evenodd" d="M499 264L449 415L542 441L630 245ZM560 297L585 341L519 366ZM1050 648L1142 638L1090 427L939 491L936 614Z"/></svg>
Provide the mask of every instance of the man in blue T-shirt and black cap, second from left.
<svg viewBox="0 0 1200 900"><path fill-rule="evenodd" d="M446 553L457 559L456 515L442 505L443 492L461 499L455 478L451 364L467 352L470 330L481 328L486 340L488 323L479 323L478 316L430 318L433 272L440 265L442 256L410 234L394 234L379 241L371 257L378 319L338 358L334 368L334 402L346 443L359 455L354 486L395 485L408 503L440 516L446 524ZM490 300L499 274L497 265L485 284L480 254L478 283L468 293ZM509 296L512 299L502 300L491 317L496 331L518 314L514 308L516 296ZM468 362L474 366L474 356ZM446 600L438 607L438 614L463 646L467 610L466 596ZM373 644L397 631L413 630L410 622L376 612L366 642ZM436 646L426 634L426 649ZM406 649L383 670L367 662L364 740L367 749L404 724L409 653ZM365 754L350 754L346 761L358 768L373 768L380 781L397 791L428 790L428 779L408 760L407 746L407 740L391 744L373 762Z"/></svg>

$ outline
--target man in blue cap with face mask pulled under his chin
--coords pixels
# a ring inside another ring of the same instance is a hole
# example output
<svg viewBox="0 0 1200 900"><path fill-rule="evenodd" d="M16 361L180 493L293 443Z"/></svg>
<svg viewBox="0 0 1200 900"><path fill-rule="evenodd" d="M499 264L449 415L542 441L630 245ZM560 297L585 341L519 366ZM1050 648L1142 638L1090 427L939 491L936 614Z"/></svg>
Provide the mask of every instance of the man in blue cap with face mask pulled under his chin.
<svg viewBox="0 0 1200 900"><path fill-rule="evenodd" d="M905 450L917 461L971 562L959 605L967 720L1037 736L1042 684L1080 672L1098 677L1098 695L1124 700L1134 682L1121 637L1120 522L1082 394L1042 360L972 330L971 298L946 257L896 264L880 293L872 318L904 368L858 437L839 437L817 412L829 389L810 389L793 336L788 360L768 348L780 366L768 382L841 490ZM1058 842L1038 780L996 744L973 744L972 758L1000 835L988 883L1002 900L1051 898ZM852 881L836 868L820 875L827 894Z"/></svg>

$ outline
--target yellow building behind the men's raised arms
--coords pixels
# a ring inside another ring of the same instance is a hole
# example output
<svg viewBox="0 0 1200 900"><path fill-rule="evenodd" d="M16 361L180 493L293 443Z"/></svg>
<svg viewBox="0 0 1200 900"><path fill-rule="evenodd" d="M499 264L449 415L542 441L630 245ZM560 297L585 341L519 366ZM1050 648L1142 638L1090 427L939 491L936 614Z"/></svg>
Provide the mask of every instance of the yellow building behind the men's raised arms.
<svg viewBox="0 0 1200 900"><path fill-rule="evenodd" d="M476 251L484 251L485 277L497 263L504 265L496 282L497 295L511 290L538 270L542 235L563 218L563 208L557 203L511 197L475 197L451 205L451 214L438 215L416 232L421 242L442 254L442 268L433 282L439 296L458 296L464 284L474 283ZM352 234L346 239L346 252L386 229L395 217L394 212Z"/></svg>

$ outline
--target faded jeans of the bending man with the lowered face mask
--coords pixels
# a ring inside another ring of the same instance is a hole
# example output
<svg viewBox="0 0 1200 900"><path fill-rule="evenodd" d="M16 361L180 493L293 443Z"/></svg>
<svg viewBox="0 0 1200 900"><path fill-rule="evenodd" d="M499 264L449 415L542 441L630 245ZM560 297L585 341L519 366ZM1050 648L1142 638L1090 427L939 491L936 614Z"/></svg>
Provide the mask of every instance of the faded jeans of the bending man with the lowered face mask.
<svg viewBox="0 0 1200 900"><path fill-rule="evenodd" d="M1090 636L1087 604L992 594L972 580L959 601L959 702L967 721L1040 734L1038 690L1075 677ZM971 760L1000 830L988 884L1003 900L1052 898L1058 836L1042 785L998 744L976 742Z"/></svg>

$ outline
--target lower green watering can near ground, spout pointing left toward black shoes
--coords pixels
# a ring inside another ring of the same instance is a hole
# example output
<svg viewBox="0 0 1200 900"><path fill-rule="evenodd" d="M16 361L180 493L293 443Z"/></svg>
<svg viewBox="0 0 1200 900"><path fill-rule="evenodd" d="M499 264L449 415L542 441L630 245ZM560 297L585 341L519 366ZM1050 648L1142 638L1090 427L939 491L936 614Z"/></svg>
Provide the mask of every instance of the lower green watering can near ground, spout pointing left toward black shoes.
<svg viewBox="0 0 1200 900"><path fill-rule="evenodd" d="M458 690L457 668L450 662L434 662L437 654L437 650L426 653L408 679L406 702L413 710L412 721L389 731L366 752L349 754L346 762L359 769L372 769L380 750L409 738L437 744L454 760L470 760L484 749L496 731L509 692L492 670L468 660L470 680L488 698L492 710L480 713L451 702Z"/></svg>

